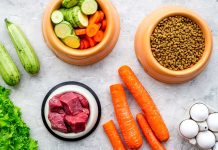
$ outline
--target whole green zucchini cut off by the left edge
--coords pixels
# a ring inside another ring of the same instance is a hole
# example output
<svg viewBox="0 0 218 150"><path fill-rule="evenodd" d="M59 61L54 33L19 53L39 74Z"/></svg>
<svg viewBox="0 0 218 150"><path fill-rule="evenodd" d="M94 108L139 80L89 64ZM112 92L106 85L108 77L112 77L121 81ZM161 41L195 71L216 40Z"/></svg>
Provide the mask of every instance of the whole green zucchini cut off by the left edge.
<svg viewBox="0 0 218 150"><path fill-rule="evenodd" d="M0 42L0 74L10 86L15 86L20 82L20 72L8 54L4 45Z"/></svg>

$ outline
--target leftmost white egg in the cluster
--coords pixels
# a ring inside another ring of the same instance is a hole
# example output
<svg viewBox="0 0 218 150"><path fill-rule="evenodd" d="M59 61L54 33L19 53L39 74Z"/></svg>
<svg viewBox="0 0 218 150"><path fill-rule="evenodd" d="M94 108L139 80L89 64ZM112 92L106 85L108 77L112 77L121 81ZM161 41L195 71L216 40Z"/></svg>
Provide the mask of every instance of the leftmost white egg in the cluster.
<svg viewBox="0 0 218 150"><path fill-rule="evenodd" d="M198 124L191 119L184 120L180 124L179 129L180 129L180 133L184 137L189 138L189 139L195 137L199 132Z"/></svg>

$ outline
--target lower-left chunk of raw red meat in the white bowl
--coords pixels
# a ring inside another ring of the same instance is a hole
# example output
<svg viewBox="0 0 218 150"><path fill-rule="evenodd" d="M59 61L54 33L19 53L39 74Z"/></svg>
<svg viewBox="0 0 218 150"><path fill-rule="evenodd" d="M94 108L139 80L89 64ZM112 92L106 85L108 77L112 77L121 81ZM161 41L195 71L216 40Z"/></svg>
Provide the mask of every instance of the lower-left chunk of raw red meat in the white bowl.
<svg viewBox="0 0 218 150"><path fill-rule="evenodd" d="M67 133L67 127L64 123L65 114L49 112L48 119L51 122L51 127L54 130Z"/></svg>

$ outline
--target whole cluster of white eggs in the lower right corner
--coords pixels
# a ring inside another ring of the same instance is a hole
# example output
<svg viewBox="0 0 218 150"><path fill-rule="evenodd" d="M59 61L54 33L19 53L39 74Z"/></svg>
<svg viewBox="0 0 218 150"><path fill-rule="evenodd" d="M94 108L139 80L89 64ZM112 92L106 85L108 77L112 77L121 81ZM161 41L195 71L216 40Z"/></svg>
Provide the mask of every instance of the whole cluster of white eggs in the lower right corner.
<svg viewBox="0 0 218 150"><path fill-rule="evenodd" d="M190 108L189 115L189 119L180 123L180 134L201 149L218 150L218 112L196 103Z"/></svg>

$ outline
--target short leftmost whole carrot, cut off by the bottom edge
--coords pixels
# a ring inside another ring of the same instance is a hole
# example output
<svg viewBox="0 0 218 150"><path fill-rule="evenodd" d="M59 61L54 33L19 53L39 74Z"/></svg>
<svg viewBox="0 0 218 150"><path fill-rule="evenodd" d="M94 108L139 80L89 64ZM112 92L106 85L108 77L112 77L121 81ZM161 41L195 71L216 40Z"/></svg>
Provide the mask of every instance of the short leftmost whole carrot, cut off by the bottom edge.
<svg viewBox="0 0 218 150"><path fill-rule="evenodd" d="M113 149L114 150L125 150L125 147L117 132L117 129L116 129L116 126L113 120L110 120L106 122L105 124L103 124L103 128L112 144Z"/></svg>

